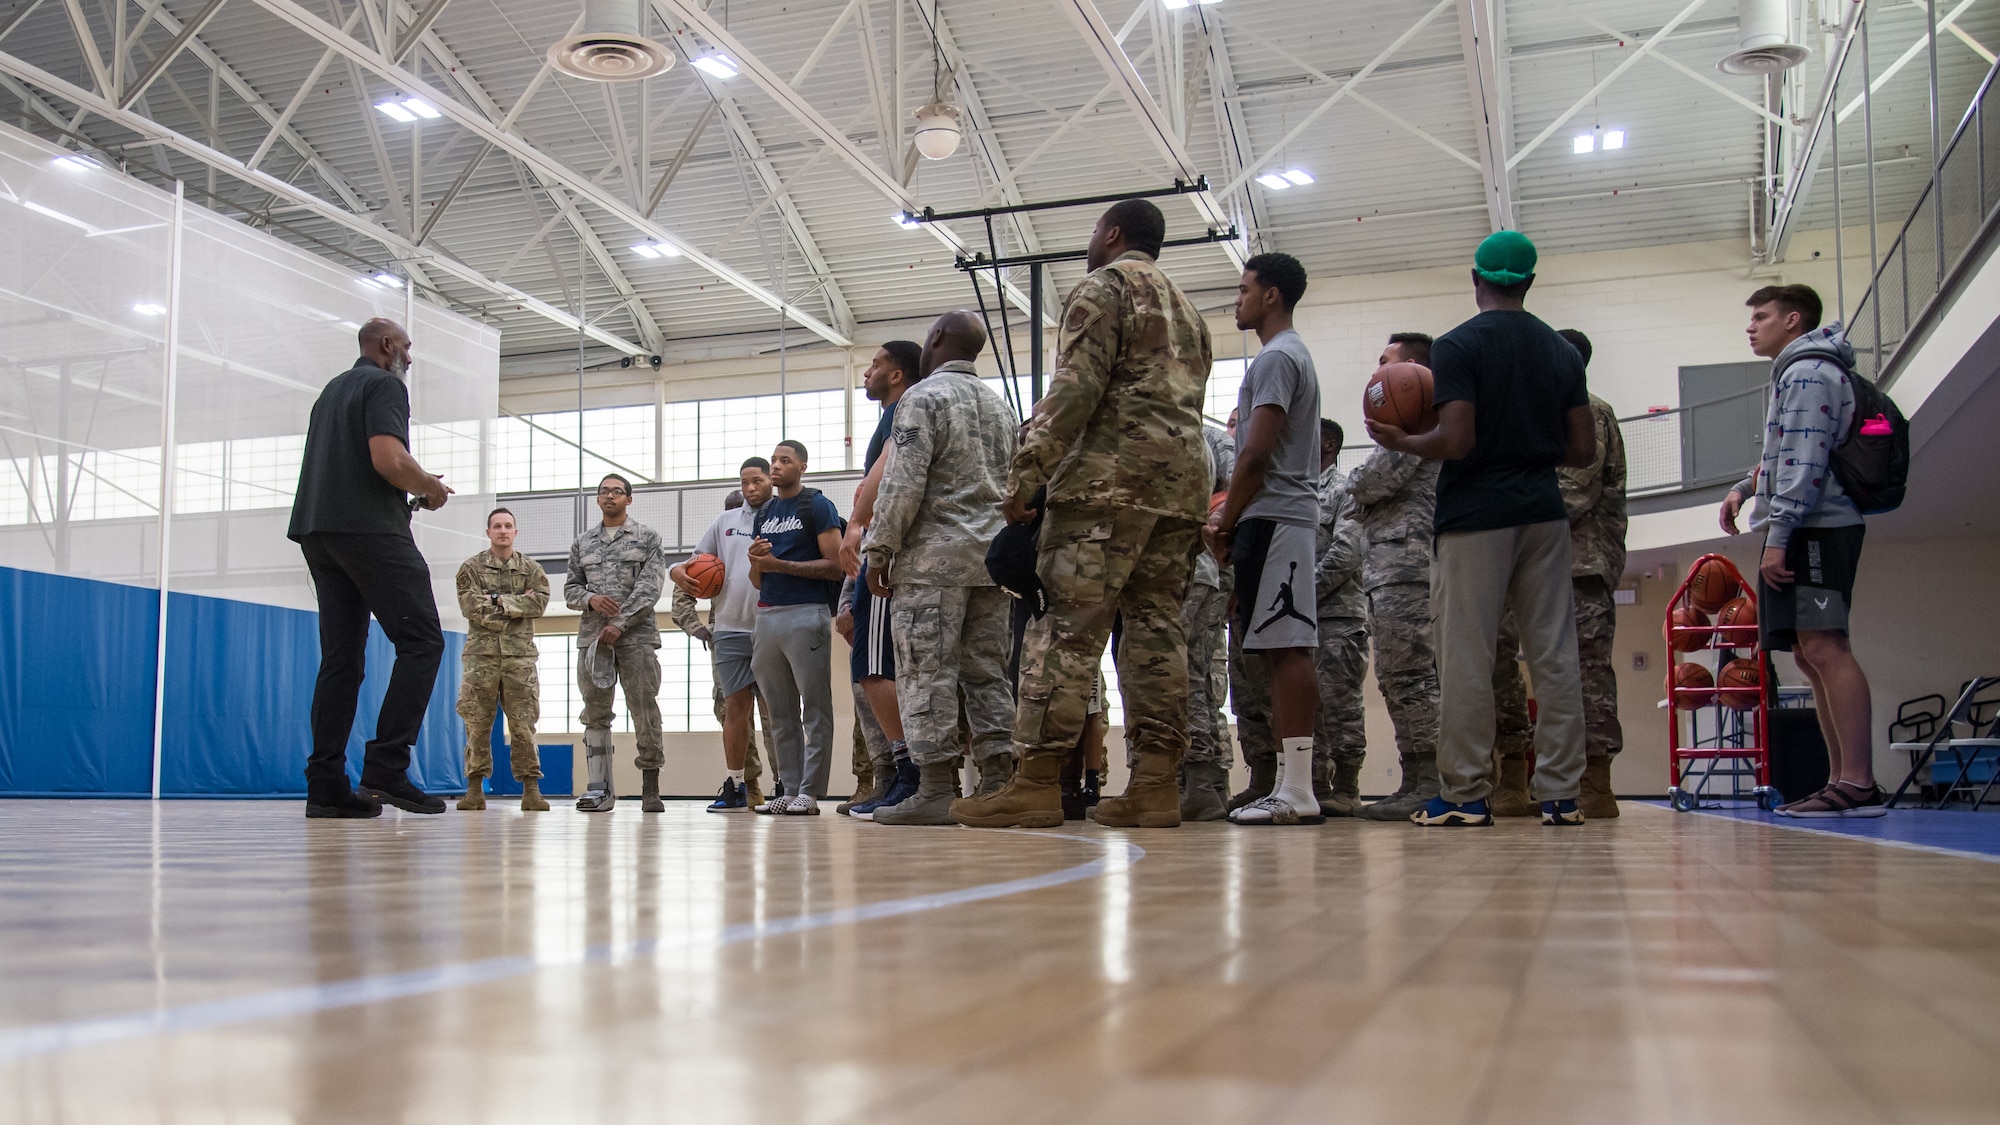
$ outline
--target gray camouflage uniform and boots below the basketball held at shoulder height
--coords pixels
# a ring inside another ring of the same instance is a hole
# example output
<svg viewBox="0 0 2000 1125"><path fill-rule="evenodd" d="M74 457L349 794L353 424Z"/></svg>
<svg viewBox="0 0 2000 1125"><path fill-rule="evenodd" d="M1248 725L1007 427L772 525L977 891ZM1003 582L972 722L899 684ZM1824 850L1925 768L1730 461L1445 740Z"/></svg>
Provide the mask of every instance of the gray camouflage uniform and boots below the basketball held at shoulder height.
<svg viewBox="0 0 2000 1125"><path fill-rule="evenodd" d="M1376 685L1396 725L1402 785L1364 805L1370 821L1404 821L1438 795L1438 657L1430 647L1430 522L1438 508L1436 460L1376 448L1348 476L1368 542L1362 591L1374 635Z"/></svg>

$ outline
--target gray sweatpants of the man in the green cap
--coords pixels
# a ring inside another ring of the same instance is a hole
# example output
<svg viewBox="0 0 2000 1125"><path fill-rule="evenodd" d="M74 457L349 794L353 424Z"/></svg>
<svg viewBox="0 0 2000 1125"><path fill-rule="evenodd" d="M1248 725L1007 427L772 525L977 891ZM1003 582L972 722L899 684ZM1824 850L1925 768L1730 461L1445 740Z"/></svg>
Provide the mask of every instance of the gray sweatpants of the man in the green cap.
<svg viewBox="0 0 2000 1125"><path fill-rule="evenodd" d="M1570 603L1570 522L1438 534L1438 777L1444 799L1492 793L1494 647L1508 603L1534 679L1534 799L1574 799L1584 777L1584 681Z"/></svg>

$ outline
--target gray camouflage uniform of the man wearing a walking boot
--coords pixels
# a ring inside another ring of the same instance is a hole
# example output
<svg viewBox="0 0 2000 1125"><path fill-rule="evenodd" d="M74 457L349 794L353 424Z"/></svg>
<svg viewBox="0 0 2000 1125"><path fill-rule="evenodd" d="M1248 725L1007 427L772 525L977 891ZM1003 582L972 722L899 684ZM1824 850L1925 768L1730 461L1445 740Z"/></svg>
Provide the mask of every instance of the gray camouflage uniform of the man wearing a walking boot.
<svg viewBox="0 0 2000 1125"><path fill-rule="evenodd" d="M568 575L562 579L562 601L584 611L576 625L576 689L584 697L584 739L592 731L612 729L612 689L590 679L590 645L606 625L618 625L618 683L624 685L626 711L638 735L638 769L660 769L666 753L660 741L660 625L652 607L666 585L666 554L660 532L626 518L608 528L598 524L570 544ZM606 619L590 609L590 599L604 595L618 603L618 615Z"/></svg>

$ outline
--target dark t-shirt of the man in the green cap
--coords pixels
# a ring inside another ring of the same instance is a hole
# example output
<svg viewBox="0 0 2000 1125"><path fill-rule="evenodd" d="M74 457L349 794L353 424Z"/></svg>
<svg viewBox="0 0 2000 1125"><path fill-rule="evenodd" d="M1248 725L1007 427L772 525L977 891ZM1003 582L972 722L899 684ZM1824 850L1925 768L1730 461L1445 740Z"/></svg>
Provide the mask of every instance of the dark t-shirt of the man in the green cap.
<svg viewBox="0 0 2000 1125"><path fill-rule="evenodd" d="M1438 472L1438 532L1564 518L1564 418L1590 402L1584 356L1532 312L1490 310L1430 346L1436 402L1472 402L1472 452Z"/></svg>

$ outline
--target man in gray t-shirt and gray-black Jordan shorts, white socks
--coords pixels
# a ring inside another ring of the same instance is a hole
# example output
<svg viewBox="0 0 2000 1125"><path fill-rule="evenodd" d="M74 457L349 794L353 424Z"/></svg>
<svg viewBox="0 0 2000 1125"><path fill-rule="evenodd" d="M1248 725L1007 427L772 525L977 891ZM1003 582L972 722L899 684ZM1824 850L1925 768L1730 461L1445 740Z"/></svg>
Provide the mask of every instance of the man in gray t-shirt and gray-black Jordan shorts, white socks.
<svg viewBox="0 0 2000 1125"><path fill-rule="evenodd" d="M1236 326L1264 344L1236 398L1236 472L1210 516L1208 544L1236 573L1236 649L1248 687L1238 721L1268 723L1276 783L1268 797L1230 811L1238 825L1322 825L1312 795L1312 729L1320 683L1318 524L1320 378L1292 308L1306 296L1306 268L1290 254L1258 254L1236 284ZM1254 659L1252 659L1254 655ZM1244 737L1252 745L1252 737Z"/></svg>

